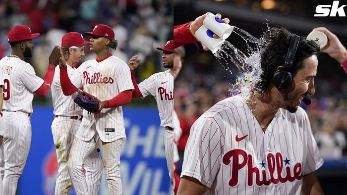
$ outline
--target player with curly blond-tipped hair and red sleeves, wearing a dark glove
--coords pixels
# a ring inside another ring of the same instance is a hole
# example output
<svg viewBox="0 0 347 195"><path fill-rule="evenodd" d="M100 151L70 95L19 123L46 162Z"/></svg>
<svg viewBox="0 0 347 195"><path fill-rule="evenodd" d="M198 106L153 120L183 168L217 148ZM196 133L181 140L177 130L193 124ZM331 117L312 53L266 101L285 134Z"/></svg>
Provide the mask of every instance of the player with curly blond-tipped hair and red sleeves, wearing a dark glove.
<svg viewBox="0 0 347 195"><path fill-rule="evenodd" d="M107 25L99 24L93 32L86 34L91 36L90 50L96 54L96 58L81 64L79 74L69 77L64 60L60 57L61 89L64 95L72 95L77 88L83 87L85 92L102 101L101 112L88 114L83 110L83 119L67 161L68 172L76 193L88 194L81 167L87 156L99 147L110 192L112 195L120 195L120 152L125 142L121 105L131 101L134 87L127 64L109 51L110 48L117 47L113 30Z"/></svg>

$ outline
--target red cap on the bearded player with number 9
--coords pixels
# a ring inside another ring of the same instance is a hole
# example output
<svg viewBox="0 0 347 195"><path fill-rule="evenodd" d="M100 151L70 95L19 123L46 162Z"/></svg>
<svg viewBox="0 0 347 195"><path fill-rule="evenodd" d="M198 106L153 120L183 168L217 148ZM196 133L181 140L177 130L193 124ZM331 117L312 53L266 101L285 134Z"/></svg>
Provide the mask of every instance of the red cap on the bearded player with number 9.
<svg viewBox="0 0 347 195"><path fill-rule="evenodd" d="M29 26L17 25L8 32L8 43L34 39L39 35L39 33L31 34Z"/></svg>

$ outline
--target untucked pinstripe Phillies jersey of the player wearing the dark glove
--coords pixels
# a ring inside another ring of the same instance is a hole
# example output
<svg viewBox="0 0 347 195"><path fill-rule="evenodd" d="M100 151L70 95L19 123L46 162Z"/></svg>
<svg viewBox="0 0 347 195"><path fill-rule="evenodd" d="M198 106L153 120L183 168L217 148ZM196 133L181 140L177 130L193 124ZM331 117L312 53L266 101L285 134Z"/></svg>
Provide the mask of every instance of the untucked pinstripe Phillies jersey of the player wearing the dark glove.
<svg viewBox="0 0 347 195"><path fill-rule="evenodd" d="M120 92L134 89L130 68L118 57L112 55L101 62L88 60L77 69L79 75L71 78L75 87L101 101L116 97ZM112 142L125 138L122 107L104 108L99 114L88 114L83 110L83 120L76 137L89 141L95 134L95 128L103 142Z"/></svg>

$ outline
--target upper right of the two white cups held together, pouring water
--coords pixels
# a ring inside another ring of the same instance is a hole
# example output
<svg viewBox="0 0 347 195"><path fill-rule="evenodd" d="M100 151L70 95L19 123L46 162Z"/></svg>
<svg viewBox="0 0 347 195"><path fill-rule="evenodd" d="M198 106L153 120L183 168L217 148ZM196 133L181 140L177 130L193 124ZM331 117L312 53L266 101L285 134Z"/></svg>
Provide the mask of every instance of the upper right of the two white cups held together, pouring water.
<svg viewBox="0 0 347 195"><path fill-rule="evenodd" d="M234 27L226 24L223 20L216 18L213 13L208 13L203 21L203 25L218 35L223 40L226 40L232 33Z"/></svg>

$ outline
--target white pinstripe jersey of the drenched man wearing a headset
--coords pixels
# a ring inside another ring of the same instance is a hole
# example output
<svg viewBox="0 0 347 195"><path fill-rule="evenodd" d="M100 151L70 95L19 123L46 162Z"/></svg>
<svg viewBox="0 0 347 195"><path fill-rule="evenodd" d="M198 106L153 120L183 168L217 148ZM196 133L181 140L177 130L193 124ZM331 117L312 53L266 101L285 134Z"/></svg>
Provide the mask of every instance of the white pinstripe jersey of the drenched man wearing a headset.
<svg viewBox="0 0 347 195"><path fill-rule="evenodd" d="M191 127L182 175L214 195L300 195L302 176L323 164L306 112L280 108L265 133L239 96Z"/></svg>

